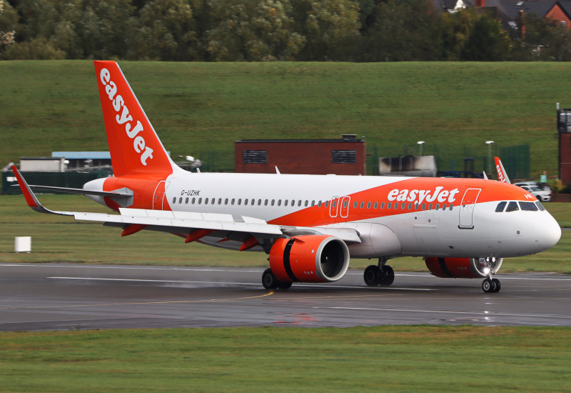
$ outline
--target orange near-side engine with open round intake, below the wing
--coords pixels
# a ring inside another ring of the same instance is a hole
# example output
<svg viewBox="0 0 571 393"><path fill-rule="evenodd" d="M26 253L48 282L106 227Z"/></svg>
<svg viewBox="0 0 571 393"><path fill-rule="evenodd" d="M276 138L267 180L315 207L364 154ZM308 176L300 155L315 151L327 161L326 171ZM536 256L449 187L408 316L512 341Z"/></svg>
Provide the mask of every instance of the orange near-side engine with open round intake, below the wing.
<svg viewBox="0 0 571 393"><path fill-rule="evenodd" d="M283 282L334 282L347 272L349 249L333 236L277 239L270 250L270 267Z"/></svg>

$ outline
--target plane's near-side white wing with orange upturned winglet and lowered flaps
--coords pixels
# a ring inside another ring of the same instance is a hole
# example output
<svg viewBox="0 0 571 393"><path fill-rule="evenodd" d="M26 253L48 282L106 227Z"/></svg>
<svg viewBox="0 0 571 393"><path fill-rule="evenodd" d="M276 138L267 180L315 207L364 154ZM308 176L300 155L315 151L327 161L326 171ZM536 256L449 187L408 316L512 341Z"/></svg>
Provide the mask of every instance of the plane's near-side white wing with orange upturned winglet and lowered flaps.
<svg viewBox="0 0 571 393"><path fill-rule="evenodd" d="M291 227L268 224L263 219L253 217L235 218L231 214L172 212L166 210L119 209L120 214L89 213L89 212L56 212L46 209L31 191L18 169L12 166L24 193L28 206L36 212L74 216L76 220L103 222L108 227L123 228L123 236L134 234L143 229L159 232L169 232L187 236L187 240L200 239L204 236L218 234L221 239L245 239L245 235L256 239L292 237L302 234L324 234L338 237L344 242L360 243L360 237L355 229L345 228L314 228ZM201 232L199 232L201 231ZM198 233L197 233L198 232ZM228 236L234 234L234 236ZM236 234L238 236L236 236ZM191 236L193 235L193 236ZM201 236L199 236L201 235Z"/></svg>

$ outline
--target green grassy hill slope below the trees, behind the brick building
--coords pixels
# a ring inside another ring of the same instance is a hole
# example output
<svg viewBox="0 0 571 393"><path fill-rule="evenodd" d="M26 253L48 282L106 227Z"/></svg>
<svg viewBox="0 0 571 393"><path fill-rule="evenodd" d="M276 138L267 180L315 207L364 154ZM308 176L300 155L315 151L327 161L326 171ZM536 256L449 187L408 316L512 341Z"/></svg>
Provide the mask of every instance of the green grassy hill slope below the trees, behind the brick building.
<svg viewBox="0 0 571 393"><path fill-rule="evenodd" d="M566 63L120 66L166 149L215 150L215 170L233 169L236 139L358 134L379 156L413 154L423 140L424 154L438 148L440 170L487 156L490 139L495 149L530 144L532 175L555 176L555 102L571 106ZM91 61L1 61L0 108L1 165L108 149Z"/></svg>

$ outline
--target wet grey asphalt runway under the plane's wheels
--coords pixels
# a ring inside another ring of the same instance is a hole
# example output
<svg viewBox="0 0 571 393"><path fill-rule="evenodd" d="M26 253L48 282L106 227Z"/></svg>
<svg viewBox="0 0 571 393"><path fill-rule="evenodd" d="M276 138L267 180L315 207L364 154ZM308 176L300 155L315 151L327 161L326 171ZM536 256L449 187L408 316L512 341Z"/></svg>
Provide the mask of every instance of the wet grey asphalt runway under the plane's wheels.
<svg viewBox="0 0 571 393"><path fill-rule="evenodd" d="M398 273L369 288L363 272L333 284L268 291L263 269L0 264L0 331L61 329L475 324L571 326L571 277L480 279Z"/></svg>

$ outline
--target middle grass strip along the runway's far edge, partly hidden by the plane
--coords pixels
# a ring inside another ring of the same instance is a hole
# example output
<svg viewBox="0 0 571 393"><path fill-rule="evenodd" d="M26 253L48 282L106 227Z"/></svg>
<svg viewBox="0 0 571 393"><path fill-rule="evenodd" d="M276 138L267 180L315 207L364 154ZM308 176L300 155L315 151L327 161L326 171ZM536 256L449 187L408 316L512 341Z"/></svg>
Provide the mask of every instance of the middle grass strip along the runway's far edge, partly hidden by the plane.
<svg viewBox="0 0 571 393"><path fill-rule="evenodd" d="M109 212L90 199L74 195L41 195L49 209L76 212ZM546 203L562 226L571 227L570 204ZM30 254L14 253L14 237L31 236ZM168 252L164 252L168 250ZM557 246L529 257L506 259L501 272L571 273L571 231L563 231ZM267 267L267 255L235 252L159 232L139 232L121 237L120 230L101 224L76 222L70 217L38 214L21 195L0 196L0 262L69 262L85 264L153 264L169 266ZM368 259L352 259L350 267L363 269ZM421 258L398 258L391 265L399 272L426 272Z"/></svg>

